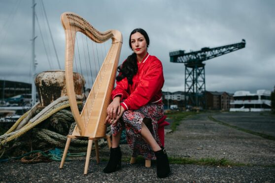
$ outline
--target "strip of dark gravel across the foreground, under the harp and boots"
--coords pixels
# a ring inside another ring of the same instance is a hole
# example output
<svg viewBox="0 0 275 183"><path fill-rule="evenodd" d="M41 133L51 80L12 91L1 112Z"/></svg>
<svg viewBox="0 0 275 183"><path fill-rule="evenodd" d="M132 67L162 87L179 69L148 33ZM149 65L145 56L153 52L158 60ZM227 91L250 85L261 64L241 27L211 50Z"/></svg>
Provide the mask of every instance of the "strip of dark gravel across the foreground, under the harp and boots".
<svg viewBox="0 0 275 183"><path fill-rule="evenodd" d="M84 161L71 161L63 169L59 162L22 165L19 162L3 164L6 169L1 173L0 182L19 183L149 183L149 182L239 182L239 183L274 183L275 169L268 167L213 167L199 165L172 164L172 174L165 179L156 176L155 165L146 168L143 164L123 163L122 169L111 174L102 172L107 162L95 165L91 161L89 172L83 175ZM3 168L3 167L1 167ZM8 169L7 169L8 168ZM1 169L3 170L3 169Z"/></svg>

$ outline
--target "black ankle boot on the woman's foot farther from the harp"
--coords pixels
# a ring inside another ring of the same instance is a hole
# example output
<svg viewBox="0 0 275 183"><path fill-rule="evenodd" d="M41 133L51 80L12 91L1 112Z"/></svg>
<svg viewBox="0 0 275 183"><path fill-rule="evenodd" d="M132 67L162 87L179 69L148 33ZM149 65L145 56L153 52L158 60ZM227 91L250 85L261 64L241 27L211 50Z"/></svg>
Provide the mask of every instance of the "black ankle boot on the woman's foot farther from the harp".
<svg viewBox="0 0 275 183"><path fill-rule="evenodd" d="M154 153L157 157L157 176L159 178L168 177L170 173L170 165L165 149L161 147L160 151Z"/></svg>

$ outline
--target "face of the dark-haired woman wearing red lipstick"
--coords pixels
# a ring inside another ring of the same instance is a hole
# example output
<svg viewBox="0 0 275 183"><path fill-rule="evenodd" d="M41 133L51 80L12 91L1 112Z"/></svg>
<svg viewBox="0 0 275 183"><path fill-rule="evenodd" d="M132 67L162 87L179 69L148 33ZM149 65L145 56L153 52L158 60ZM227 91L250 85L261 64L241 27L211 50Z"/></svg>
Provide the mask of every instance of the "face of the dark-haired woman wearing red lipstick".
<svg viewBox="0 0 275 183"><path fill-rule="evenodd" d="M145 55L147 53L146 39L141 33L136 32L131 35L131 45L132 45L133 51L137 55L143 55L143 54Z"/></svg>

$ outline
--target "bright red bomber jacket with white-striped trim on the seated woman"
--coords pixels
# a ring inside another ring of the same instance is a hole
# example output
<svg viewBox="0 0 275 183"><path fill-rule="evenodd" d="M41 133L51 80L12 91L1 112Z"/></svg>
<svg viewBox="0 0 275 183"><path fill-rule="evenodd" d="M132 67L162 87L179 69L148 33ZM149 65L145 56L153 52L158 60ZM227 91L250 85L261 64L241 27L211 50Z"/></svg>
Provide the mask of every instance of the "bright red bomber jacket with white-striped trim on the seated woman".
<svg viewBox="0 0 275 183"><path fill-rule="evenodd" d="M161 61L155 56L147 55L138 62L138 72L133 77L133 84L128 84L127 78L116 81L112 91L112 99L121 95L121 106L126 110L137 110L148 103L162 101L164 84Z"/></svg>

